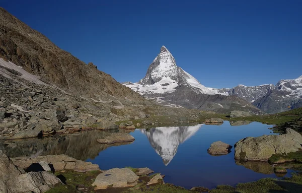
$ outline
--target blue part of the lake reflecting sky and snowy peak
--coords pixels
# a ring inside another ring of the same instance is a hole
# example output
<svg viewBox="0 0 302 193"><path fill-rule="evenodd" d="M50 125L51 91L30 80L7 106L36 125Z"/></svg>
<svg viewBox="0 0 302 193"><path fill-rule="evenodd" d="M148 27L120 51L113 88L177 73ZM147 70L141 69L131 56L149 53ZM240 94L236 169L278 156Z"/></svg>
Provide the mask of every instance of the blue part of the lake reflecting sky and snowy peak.
<svg viewBox="0 0 302 193"><path fill-rule="evenodd" d="M210 144L222 141L232 146L240 139L272 135L270 125L252 122L247 125L196 125L159 127L130 133L135 141L130 145L109 147L91 161L101 169L131 166L148 167L165 174L165 182L190 188L215 187L217 184L235 185L272 174L256 173L234 160L234 148L229 155L214 157L207 153ZM258 171L262 170L258 167ZM265 170L270 170L267 165ZM272 169L272 168L271 168ZM267 173L267 172L266 172ZM290 172L288 172L290 173ZM287 174L289 176L289 174Z"/></svg>

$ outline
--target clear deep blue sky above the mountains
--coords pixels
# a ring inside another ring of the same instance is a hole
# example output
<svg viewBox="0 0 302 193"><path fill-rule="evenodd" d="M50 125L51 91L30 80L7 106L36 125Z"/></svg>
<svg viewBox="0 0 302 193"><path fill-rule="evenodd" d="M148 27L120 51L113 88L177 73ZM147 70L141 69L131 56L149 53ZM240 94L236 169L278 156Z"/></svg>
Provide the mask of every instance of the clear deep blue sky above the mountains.
<svg viewBox="0 0 302 193"><path fill-rule="evenodd" d="M0 6L119 82L137 82L165 45L208 87L302 75L302 1L12 1Z"/></svg>

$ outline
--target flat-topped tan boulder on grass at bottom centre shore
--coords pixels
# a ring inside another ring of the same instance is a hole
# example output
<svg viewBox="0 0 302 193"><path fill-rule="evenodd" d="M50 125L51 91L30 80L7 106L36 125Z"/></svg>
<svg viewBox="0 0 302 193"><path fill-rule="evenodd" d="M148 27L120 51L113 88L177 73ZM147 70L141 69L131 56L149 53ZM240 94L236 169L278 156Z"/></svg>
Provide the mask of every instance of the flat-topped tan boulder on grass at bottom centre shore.
<svg viewBox="0 0 302 193"><path fill-rule="evenodd" d="M131 187L137 184L138 176L129 168L113 168L99 174L92 186L97 189L110 187Z"/></svg>

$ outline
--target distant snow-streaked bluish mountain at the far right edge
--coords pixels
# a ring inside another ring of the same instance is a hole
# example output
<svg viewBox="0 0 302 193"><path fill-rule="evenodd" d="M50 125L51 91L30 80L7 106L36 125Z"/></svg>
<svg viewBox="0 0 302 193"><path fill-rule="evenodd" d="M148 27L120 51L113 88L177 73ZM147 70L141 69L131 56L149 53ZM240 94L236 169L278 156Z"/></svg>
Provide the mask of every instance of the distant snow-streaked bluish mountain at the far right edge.
<svg viewBox="0 0 302 193"><path fill-rule="evenodd" d="M302 107L302 76L292 80L280 80L273 90L253 102L267 113L278 113Z"/></svg>

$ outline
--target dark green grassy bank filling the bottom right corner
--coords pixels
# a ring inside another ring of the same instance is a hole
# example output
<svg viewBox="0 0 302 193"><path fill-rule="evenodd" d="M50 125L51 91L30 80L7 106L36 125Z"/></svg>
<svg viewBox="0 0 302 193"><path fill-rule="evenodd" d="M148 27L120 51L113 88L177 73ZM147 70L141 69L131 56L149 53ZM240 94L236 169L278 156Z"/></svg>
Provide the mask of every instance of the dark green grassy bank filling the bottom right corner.
<svg viewBox="0 0 302 193"><path fill-rule="evenodd" d="M229 185L218 185L209 193L270 193L270 192L302 192L302 175L293 174L291 178L283 180L274 178L263 178L258 181L239 183L236 187Z"/></svg>

